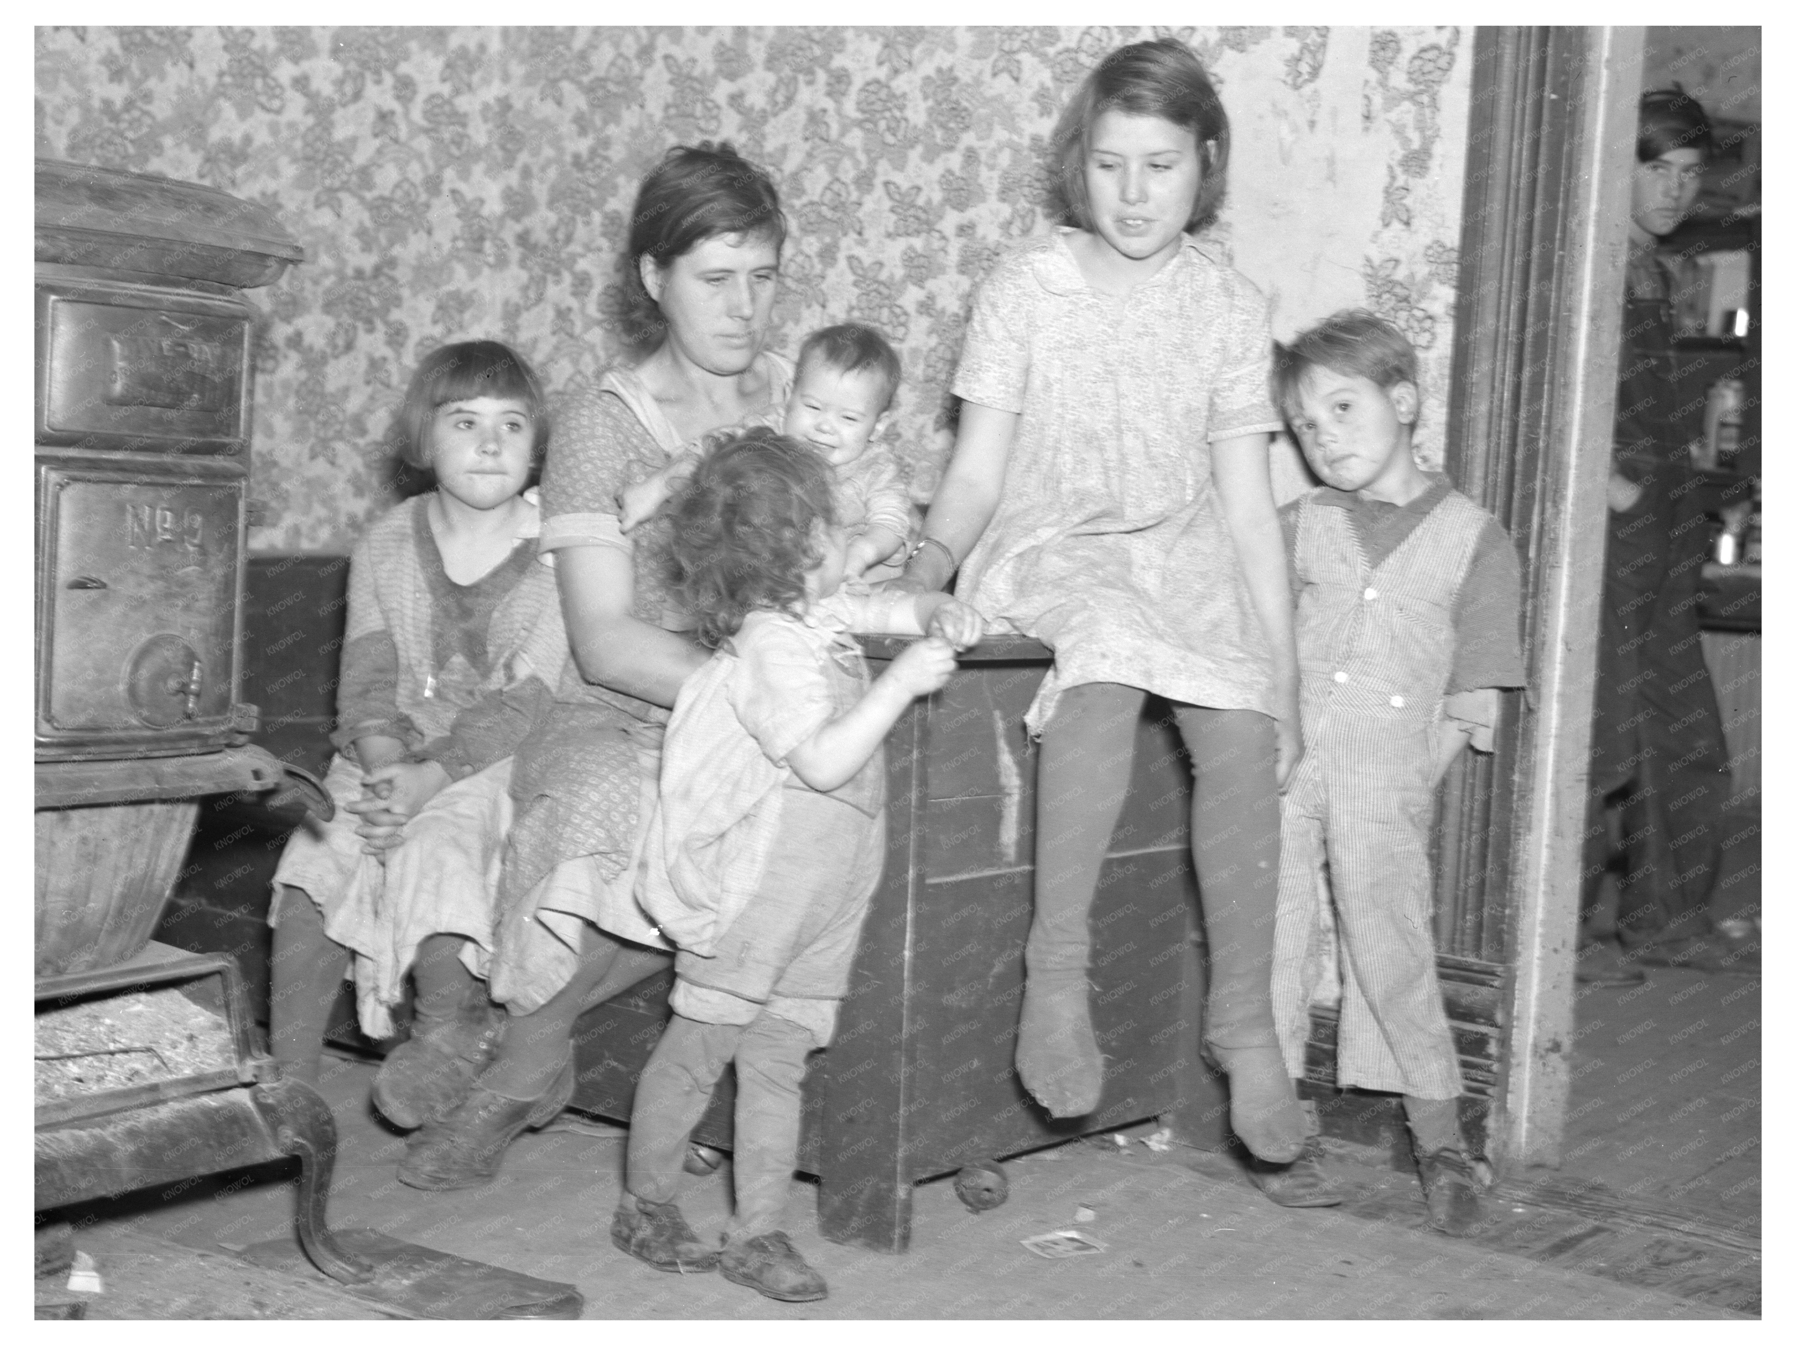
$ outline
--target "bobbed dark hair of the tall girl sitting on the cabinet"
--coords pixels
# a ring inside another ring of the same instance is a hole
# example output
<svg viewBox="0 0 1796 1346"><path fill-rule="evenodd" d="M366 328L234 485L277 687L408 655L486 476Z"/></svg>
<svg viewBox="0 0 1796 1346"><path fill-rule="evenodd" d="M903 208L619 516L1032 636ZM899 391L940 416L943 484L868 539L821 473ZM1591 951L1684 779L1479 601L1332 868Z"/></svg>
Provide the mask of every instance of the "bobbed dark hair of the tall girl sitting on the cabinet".
<svg viewBox="0 0 1796 1346"><path fill-rule="evenodd" d="M1228 187L1228 113L1203 65L1173 38L1137 41L1110 52L1060 113L1047 167L1061 223L1094 228L1092 201L1085 192L1085 156L1090 153L1092 124L1112 109L1158 117L1196 136L1203 179L1185 233L1209 224Z"/></svg>

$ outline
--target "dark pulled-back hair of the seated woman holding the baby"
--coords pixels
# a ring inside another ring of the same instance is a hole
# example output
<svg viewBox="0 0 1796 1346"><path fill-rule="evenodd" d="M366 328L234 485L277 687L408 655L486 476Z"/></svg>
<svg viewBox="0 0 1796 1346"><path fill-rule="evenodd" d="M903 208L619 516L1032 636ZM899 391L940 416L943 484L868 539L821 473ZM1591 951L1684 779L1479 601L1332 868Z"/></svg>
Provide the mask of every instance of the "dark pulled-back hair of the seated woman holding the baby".
<svg viewBox="0 0 1796 1346"><path fill-rule="evenodd" d="M674 145L636 188L623 257L623 327L632 345L654 345L666 323L643 287L641 260L665 267L720 233L758 233L785 246L785 214L772 178L727 140Z"/></svg>

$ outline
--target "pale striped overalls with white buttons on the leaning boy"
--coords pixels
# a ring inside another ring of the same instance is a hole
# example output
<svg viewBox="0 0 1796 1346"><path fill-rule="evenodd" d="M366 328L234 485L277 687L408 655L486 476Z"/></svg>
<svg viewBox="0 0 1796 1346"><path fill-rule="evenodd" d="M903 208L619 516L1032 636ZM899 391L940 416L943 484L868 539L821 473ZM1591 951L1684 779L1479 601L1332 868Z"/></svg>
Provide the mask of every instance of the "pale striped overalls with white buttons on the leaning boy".
<svg viewBox="0 0 1796 1346"><path fill-rule="evenodd" d="M1453 1098L1464 1089L1435 978L1428 829L1453 598L1489 515L1448 495L1376 567L1343 508L1304 499L1295 572L1304 757L1282 799L1272 969L1279 1043L1304 1073L1322 980L1316 865L1342 944L1338 1088Z"/></svg>

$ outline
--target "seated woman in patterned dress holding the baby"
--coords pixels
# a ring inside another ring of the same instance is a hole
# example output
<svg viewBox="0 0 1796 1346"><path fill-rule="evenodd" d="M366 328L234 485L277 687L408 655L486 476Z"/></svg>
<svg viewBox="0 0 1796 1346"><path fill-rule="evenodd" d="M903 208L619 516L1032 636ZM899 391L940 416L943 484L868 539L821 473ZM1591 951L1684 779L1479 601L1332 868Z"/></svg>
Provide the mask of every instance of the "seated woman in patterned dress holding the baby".
<svg viewBox="0 0 1796 1346"><path fill-rule="evenodd" d="M668 590L668 524L625 535L618 494L720 429L778 425L792 364L765 352L785 217L767 174L727 144L675 147L630 212L625 294L639 345L555 407L542 537L555 555L575 671L519 745L490 991L506 1007L492 1062L413 1134L399 1177L490 1181L524 1127L573 1095L573 1023L672 962L632 897L681 684L708 659Z"/></svg>

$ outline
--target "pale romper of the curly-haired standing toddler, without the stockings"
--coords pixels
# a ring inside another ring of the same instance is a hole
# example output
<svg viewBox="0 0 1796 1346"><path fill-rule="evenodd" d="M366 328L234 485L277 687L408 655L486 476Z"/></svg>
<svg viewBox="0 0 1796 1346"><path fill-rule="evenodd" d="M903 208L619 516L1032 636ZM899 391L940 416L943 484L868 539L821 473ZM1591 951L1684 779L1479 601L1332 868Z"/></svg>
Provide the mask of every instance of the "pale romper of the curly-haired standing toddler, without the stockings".
<svg viewBox="0 0 1796 1346"><path fill-rule="evenodd" d="M679 948L675 1012L749 1023L767 1012L835 1032L885 856L884 748L817 791L787 754L867 689L848 634L898 596L837 592L803 617L751 612L681 687L643 865L643 908Z"/></svg>

